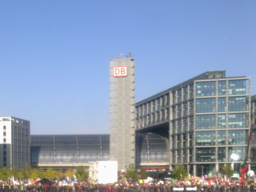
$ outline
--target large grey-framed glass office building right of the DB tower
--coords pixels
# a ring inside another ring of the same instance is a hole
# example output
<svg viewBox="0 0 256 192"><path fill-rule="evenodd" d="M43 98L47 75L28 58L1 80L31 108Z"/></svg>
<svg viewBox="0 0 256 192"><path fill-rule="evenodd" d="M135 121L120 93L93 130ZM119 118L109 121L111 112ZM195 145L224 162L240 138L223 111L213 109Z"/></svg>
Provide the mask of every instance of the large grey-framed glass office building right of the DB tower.
<svg viewBox="0 0 256 192"><path fill-rule="evenodd" d="M168 139L170 169L183 164L191 175L218 176L232 153L244 160L250 105L250 78L208 71L136 103L136 132Z"/></svg>

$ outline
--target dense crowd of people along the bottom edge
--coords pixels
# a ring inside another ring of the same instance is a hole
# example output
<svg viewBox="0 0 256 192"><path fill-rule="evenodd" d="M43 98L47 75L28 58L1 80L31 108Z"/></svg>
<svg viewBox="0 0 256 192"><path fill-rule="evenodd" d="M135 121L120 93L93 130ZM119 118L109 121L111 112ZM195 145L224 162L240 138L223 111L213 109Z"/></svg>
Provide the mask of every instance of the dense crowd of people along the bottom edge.
<svg viewBox="0 0 256 192"><path fill-rule="evenodd" d="M154 181L152 183L118 182L113 184L74 183L11 183L1 182L0 192L256 192L256 181L247 180L243 185L239 180L176 180Z"/></svg>

